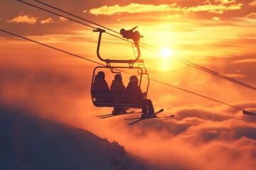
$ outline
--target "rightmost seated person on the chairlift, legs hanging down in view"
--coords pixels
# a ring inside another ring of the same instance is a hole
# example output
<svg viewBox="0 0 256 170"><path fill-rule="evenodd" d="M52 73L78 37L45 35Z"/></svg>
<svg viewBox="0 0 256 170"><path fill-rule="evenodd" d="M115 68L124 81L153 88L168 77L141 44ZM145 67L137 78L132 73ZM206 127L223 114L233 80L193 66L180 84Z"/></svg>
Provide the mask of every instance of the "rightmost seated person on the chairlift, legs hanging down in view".
<svg viewBox="0 0 256 170"><path fill-rule="evenodd" d="M132 76L129 79L129 84L127 86L127 94L137 94L139 98L131 100L131 103L142 103L142 118L152 118L156 117L154 114L154 106L150 99L144 98L146 93L142 94L142 90L139 88L139 79L136 76Z"/></svg>

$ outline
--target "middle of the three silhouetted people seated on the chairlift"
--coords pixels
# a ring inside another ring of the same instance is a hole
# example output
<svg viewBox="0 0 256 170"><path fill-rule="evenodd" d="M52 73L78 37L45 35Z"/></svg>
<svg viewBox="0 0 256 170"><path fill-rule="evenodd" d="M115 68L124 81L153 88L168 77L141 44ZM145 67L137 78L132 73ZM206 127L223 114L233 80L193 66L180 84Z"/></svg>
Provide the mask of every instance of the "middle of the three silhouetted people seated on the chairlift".
<svg viewBox="0 0 256 170"><path fill-rule="evenodd" d="M122 82L121 74L114 75L114 80L112 81L112 84L110 86L110 91L113 91L114 93L117 93L117 94L124 94L125 87L124 87L124 84ZM124 101L124 99L120 99L120 98L113 98L113 99L117 103L120 102L120 101ZM126 113L125 108L114 108L114 111L113 111L112 114L118 115L118 114L122 114L122 113Z"/></svg>

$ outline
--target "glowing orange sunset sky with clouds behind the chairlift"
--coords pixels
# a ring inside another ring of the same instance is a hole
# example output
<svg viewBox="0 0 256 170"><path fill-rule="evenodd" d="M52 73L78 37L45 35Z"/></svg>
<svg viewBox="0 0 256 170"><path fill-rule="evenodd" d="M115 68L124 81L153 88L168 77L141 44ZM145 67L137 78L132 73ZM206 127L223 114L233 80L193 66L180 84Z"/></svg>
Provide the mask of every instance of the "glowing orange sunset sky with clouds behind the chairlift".
<svg viewBox="0 0 256 170"><path fill-rule="evenodd" d="M163 58L142 49L152 79L256 113L255 91L174 60L180 57L255 86L255 0L44 2L112 30L139 26L142 42L159 52L169 47L173 53ZM100 62L98 33L92 28L21 2L1 3L0 28ZM146 120L132 127L124 117L99 120L95 115L112 109L95 108L90 101L92 69L97 64L2 32L0 45L2 107L85 128L166 167L253 169L256 165L256 119L241 111L151 81L149 98L156 110L164 108L162 115L176 118ZM134 57L128 42L107 34L101 52L106 58ZM114 76L107 77L110 84ZM129 75L123 77L127 84Z"/></svg>

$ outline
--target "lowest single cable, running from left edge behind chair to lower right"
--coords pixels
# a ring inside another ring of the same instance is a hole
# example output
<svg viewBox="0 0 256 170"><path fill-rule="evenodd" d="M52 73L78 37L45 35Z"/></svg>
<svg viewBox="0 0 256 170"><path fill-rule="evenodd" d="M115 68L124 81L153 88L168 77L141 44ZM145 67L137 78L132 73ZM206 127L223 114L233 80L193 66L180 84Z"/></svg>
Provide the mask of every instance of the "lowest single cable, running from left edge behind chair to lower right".
<svg viewBox="0 0 256 170"><path fill-rule="evenodd" d="M65 51L65 50L60 50L60 49L58 49L58 48L56 48L56 47L52 47L52 46L50 46L50 45L43 44L43 43L38 42L38 41L36 41L36 40L31 40L31 39L29 39L29 38L25 38L25 37L23 37L23 36L21 36L21 35L17 35L17 34L15 34L15 33L11 33L11 32L6 31L6 30L2 30L2 29L0 29L0 30L1 30L2 32L4 32L4 33L8 33L8 34L10 34L10 35L14 35L14 36L16 36L16 37L18 37L18 38L22 38L22 39L24 39L24 40L28 40L28 41L31 41L31 42L35 42L35 43L37 43L37 44L39 44L39 45L43 45L43 46L45 46L45 47L49 47L49 48L51 48L51 49L58 50L58 51L60 51L60 52L64 52L64 53L66 53L66 54L68 54L68 55L73 55L74 57L79 57L79 58L81 58L82 60L87 60L87 61L89 61L89 62L93 62L93 63L95 63L95 64L100 64L100 65L105 66L105 64L102 64L102 63L100 63L100 62L95 62L94 60L89 60L89 59L87 59L87 58L85 58L85 57L81 57L80 55L75 55L75 54L73 54L73 53L71 53L71 52L67 52L67 51ZM117 70L120 71L120 72L124 72L124 71L119 70L119 69L117 69ZM129 73L129 72L124 72L124 73L131 74L131 73ZM196 93L194 93L193 91L188 91L188 90L186 90L186 89L181 89L180 87L172 86L171 84L166 84L166 83L164 83L164 82L162 82L162 81L158 81L158 80L155 80L155 79L150 79L150 80L151 80L151 81L155 81L155 82L157 82L157 83L159 83L159 84L164 84L164 85L166 85L166 86L174 87L174 88L179 89L179 90L181 90L181 91L186 91L186 92L188 92L188 93L190 93L190 94L194 94L194 95L196 95L196 96L201 96L201 97L203 97L203 98L207 98L208 100L211 100L211 101L215 101L215 102L218 102L218 103L222 103L222 104L224 104L224 105L226 105L226 106L230 106L230 107L232 107L232 108L236 108L236 109L242 111L243 113L247 113L247 115L250 115L250 114L251 114L251 115L255 115L255 113L250 113L250 112L248 112L248 111L244 111L242 108L238 108L238 107L233 106L233 105L230 105L230 104L228 104L228 103L224 103L223 101L218 101L218 100L216 100L216 99L214 99L214 98L210 98L210 97L207 97L207 96L203 96L203 95L201 95L201 94L196 94ZM249 113L250 113L250 114L249 114Z"/></svg>

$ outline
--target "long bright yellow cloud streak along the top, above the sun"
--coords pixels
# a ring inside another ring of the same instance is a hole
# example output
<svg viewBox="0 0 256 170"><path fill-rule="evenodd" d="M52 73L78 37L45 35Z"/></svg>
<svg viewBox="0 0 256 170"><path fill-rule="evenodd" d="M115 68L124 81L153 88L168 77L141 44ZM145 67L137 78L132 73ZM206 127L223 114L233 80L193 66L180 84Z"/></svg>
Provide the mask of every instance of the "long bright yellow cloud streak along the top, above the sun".
<svg viewBox="0 0 256 170"><path fill-rule="evenodd" d="M111 16L118 13L148 13L148 12L159 12L159 11L180 11L180 7L174 7L176 3L171 5L161 4L155 6L152 4L129 4L128 6L102 6L100 8L90 9L90 13L95 15L107 15Z"/></svg>

